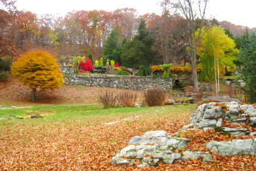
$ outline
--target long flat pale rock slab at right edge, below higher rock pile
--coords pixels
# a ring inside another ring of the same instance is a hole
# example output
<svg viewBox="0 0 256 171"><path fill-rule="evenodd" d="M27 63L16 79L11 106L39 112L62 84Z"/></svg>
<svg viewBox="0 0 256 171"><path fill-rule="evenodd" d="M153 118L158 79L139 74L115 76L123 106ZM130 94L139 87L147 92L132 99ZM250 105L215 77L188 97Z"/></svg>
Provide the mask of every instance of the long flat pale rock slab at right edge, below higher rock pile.
<svg viewBox="0 0 256 171"><path fill-rule="evenodd" d="M210 141L206 148L221 156L245 156L254 155L253 140Z"/></svg>

